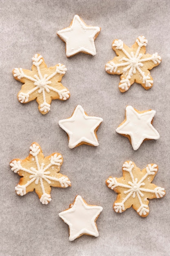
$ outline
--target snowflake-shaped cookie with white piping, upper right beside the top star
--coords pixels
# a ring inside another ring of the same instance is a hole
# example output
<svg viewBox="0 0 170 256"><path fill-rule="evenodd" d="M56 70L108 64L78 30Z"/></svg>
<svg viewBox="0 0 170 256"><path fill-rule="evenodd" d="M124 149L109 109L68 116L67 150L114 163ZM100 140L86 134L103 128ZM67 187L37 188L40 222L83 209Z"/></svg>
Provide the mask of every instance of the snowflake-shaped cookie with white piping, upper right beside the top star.
<svg viewBox="0 0 170 256"><path fill-rule="evenodd" d="M149 70L161 63L161 57L157 54L145 54L148 40L139 36L129 48L122 40L114 40L112 48L118 57L106 64L106 72L109 74L121 74L119 90L126 92L136 82L146 90L153 85Z"/></svg>

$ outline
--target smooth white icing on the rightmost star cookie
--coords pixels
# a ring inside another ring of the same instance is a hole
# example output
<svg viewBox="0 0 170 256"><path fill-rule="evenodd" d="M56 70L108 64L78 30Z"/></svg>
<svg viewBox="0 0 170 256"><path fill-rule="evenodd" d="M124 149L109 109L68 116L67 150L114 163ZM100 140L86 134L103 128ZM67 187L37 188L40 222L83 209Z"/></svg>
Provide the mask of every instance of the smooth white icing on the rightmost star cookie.
<svg viewBox="0 0 170 256"><path fill-rule="evenodd" d="M155 113L155 110L138 113L132 106L127 106L126 121L116 129L116 132L129 135L133 149L137 150L144 139L159 139L159 133L151 124Z"/></svg>

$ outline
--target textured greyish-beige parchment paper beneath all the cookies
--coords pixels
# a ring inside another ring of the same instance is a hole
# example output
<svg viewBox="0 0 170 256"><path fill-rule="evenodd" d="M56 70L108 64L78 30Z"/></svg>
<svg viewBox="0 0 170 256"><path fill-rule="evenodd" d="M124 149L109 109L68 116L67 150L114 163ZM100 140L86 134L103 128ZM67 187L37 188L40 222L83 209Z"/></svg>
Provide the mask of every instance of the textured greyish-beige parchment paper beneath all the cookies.
<svg viewBox="0 0 170 256"><path fill-rule="evenodd" d="M95 40L97 55L66 58L65 44L56 32L68 27L75 14L87 25L102 28ZM169 24L168 0L0 1L0 256L170 255ZM146 52L158 52L162 63L151 70L154 85L150 90L134 84L122 94L119 76L107 74L104 66L115 56L114 39L131 46L139 35L148 39ZM40 114L36 101L21 104L16 97L21 83L13 79L12 70L31 69L35 53L48 66L63 63L68 68L62 83L71 97L65 102L52 101L47 115ZM98 147L68 148L67 135L58 121L71 116L78 104L88 115L104 119L97 131ZM124 120L126 105L157 111L153 125L159 140L145 141L134 151L128 139L115 132ZM52 188L48 205L42 205L35 192L23 197L15 193L19 176L11 171L9 162L24 159L33 141L40 144L45 156L63 155L61 173L72 182L68 189ZM153 183L167 193L162 199L150 200L147 218L132 208L122 214L113 211L116 193L107 188L105 180L110 175L120 177L126 160L140 168L159 165ZM97 220L98 238L68 240L68 226L58 213L77 194L104 208Z"/></svg>

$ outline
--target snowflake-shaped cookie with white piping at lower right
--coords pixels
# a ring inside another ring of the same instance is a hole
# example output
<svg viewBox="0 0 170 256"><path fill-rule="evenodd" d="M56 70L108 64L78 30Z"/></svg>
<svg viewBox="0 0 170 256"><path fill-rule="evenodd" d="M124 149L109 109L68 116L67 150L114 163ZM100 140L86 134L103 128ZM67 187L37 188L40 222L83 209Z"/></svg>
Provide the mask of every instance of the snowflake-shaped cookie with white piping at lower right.
<svg viewBox="0 0 170 256"><path fill-rule="evenodd" d="M157 164L148 164L141 171L135 163L127 161L122 169L123 177L109 177L106 180L107 186L118 193L113 209L121 213L132 206L139 216L148 216L148 199L165 195L163 188L151 183L158 171Z"/></svg>

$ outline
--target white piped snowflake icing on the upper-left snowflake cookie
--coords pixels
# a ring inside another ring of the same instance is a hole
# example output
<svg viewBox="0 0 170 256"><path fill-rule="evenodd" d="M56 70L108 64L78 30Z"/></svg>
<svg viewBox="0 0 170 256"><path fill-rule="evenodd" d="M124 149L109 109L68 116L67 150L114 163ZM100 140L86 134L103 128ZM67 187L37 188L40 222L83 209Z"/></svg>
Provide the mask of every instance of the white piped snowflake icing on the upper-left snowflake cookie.
<svg viewBox="0 0 170 256"><path fill-rule="evenodd" d="M34 75L34 77L31 76L27 76L26 74L24 74L24 71L22 70L22 68L15 68L14 69L14 77L17 77L18 79L22 79L22 78L26 78L30 81L33 82L33 84L35 85L35 87L30 90L27 93L24 92L20 92L18 95L18 99L21 103L26 103L29 101L29 96L35 92L36 90L38 90L39 94L42 94L43 97L43 103L40 104L40 111L41 112L49 112L50 110L50 104L48 104L46 102L46 96L45 96L45 92L49 93L50 90L56 92L60 99L62 100L66 100L69 98L69 91L64 88L62 90L57 90L56 88L53 88L51 85L51 79L56 75L56 74L65 74L67 68L65 67L65 65L62 65L61 63L59 63L55 69L55 72L53 72L53 74L49 75L48 74L44 74L44 76L42 76L41 74L41 70L40 70L40 65L43 62L42 56L35 54L32 58L33 60L33 65L36 67L37 69L37 74Z"/></svg>

